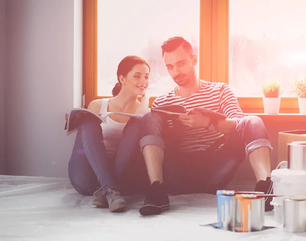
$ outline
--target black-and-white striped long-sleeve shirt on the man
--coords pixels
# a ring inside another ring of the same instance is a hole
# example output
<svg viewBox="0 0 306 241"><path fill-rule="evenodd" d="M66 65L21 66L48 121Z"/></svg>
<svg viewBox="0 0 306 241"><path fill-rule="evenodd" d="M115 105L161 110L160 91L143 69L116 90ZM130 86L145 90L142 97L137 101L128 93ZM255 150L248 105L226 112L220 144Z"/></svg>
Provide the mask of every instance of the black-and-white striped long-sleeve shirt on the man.
<svg viewBox="0 0 306 241"><path fill-rule="evenodd" d="M235 118L237 124L245 116L239 106L234 92L226 83L204 81L198 92L190 97L182 98L175 95L174 89L156 98L152 107L180 104L189 111L195 107L203 107L225 114L226 118ZM208 149L223 133L208 131L205 128L187 127L182 135L182 152Z"/></svg>

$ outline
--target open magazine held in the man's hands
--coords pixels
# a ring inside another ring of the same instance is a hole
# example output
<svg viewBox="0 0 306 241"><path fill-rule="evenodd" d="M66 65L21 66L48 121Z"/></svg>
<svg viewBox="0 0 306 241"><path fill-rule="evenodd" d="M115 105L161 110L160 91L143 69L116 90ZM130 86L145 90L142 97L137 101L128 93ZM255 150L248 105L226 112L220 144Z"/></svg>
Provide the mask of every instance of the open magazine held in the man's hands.
<svg viewBox="0 0 306 241"><path fill-rule="evenodd" d="M197 110L197 111L199 111L203 114L213 116L214 118L217 118L217 119L225 119L226 118L226 116L222 113L219 113L219 112L216 112L216 111L213 111L213 110L209 110L209 109L205 109L205 108L202 108L202 107L195 107L195 108L193 108L193 110ZM174 115L188 115L190 113L190 111L187 111L187 109L184 106L178 105L178 104L153 107L153 108L151 108L151 111L158 111L158 112L163 112L163 113L167 113L167 114L174 114Z"/></svg>

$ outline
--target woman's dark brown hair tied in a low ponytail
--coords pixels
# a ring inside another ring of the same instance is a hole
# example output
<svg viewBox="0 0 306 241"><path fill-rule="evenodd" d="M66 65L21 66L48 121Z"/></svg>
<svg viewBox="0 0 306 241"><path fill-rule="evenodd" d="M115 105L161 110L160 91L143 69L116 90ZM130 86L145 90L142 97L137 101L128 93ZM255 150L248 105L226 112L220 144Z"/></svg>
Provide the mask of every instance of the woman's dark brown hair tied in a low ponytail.
<svg viewBox="0 0 306 241"><path fill-rule="evenodd" d="M147 63L147 61L145 61L144 59L136 55L129 55L129 56L124 57L118 65L118 69L117 69L118 83L116 83L115 87L112 90L112 94L114 97L118 95L118 93L121 90L121 82L119 80L119 76L121 75L126 76L127 73L129 73L136 64L146 64L150 71L150 66Z"/></svg>

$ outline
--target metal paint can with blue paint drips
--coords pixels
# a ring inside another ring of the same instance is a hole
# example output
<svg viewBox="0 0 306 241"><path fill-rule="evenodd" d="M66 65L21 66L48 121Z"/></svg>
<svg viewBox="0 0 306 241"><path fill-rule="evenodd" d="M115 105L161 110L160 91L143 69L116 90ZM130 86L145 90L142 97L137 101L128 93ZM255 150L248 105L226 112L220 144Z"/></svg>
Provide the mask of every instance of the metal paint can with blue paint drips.
<svg viewBox="0 0 306 241"><path fill-rule="evenodd" d="M217 190L218 227L235 225L235 191Z"/></svg>

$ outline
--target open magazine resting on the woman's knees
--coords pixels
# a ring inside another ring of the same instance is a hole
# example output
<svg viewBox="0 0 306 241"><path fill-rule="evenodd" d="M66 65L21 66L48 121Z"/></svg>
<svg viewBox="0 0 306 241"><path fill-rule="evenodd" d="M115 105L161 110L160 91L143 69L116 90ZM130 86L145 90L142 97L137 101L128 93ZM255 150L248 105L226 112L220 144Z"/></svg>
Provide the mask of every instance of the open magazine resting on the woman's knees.
<svg viewBox="0 0 306 241"><path fill-rule="evenodd" d="M88 109L73 108L67 117L64 130L67 130L67 135L71 134L73 131L77 130L80 127L80 125L85 119L92 119L92 121L96 121L99 124L106 124L107 117L110 114L118 114L138 118L138 116L135 114L127 114L121 112L105 112L100 116Z"/></svg>

